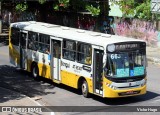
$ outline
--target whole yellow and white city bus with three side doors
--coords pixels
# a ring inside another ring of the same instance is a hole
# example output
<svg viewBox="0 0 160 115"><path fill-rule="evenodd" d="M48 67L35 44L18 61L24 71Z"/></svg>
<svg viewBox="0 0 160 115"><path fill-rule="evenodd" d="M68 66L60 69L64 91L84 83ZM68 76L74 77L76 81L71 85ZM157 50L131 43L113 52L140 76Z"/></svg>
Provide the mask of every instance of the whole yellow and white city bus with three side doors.
<svg viewBox="0 0 160 115"><path fill-rule="evenodd" d="M42 22L10 25L10 63L95 94L117 98L146 93L146 43Z"/></svg>

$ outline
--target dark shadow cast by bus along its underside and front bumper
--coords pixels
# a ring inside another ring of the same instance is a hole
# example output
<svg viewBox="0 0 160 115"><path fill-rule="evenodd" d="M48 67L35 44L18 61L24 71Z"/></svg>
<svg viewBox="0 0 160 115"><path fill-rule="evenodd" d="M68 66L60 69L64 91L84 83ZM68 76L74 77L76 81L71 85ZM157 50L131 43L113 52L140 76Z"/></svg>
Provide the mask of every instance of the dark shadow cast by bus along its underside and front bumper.
<svg viewBox="0 0 160 115"><path fill-rule="evenodd" d="M69 92L73 92L77 95L82 95L80 90L71 88L69 86L65 86L63 84L55 84L55 87L65 89ZM144 102L148 100L152 100L156 97L160 96L160 94L147 91L145 95L141 96L134 96L134 97L123 97L123 98L102 98L97 95L91 94L90 98L92 98L95 101L101 102L105 105L127 105L127 104L134 104L139 102Z"/></svg>

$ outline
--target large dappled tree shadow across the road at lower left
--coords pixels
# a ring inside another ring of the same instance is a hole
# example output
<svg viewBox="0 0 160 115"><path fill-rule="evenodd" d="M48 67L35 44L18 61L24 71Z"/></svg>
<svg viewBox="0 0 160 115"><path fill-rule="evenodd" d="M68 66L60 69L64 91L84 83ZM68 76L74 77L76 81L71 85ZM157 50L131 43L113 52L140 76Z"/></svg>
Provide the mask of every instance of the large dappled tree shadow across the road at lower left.
<svg viewBox="0 0 160 115"><path fill-rule="evenodd" d="M29 97L54 94L50 91L53 89L53 84L48 80L35 81L26 71L16 69L9 65L0 65L0 87L9 89ZM10 99L19 99L23 96L7 95L5 92L0 92L0 103L9 101Z"/></svg>

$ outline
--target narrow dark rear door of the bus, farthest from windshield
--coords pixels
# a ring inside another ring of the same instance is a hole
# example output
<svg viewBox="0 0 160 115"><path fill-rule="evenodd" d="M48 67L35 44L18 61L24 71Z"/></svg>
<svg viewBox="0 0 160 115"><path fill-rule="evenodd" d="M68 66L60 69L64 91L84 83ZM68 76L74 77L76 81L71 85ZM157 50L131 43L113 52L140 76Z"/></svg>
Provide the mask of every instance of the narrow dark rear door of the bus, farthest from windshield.
<svg viewBox="0 0 160 115"><path fill-rule="evenodd" d="M20 32L20 68L27 69L27 32Z"/></svg>

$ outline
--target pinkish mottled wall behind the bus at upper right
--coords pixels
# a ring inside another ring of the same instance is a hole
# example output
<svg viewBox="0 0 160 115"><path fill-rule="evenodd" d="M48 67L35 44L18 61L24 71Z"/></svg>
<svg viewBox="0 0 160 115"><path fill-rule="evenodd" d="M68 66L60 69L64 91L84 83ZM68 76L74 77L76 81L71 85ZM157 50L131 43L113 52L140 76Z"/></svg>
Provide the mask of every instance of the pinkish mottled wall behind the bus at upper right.
<svg viewBox="0 0 160 115"><path fill-rule="evenodd" d="M155 22L115 18L110 27L116 35L142 39L149 46L160 47L160 31L156 29Z"/></svg>

